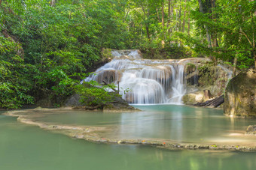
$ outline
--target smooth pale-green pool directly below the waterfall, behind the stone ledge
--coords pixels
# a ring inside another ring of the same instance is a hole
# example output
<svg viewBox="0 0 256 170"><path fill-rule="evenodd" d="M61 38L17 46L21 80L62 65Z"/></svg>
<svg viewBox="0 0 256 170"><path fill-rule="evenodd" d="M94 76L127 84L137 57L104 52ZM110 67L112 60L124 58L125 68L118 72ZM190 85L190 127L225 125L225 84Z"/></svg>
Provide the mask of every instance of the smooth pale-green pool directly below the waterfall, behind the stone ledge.
<svg viewBox="0 0 256 170"><path fill-rule="evenodd" d="M248 142L252 136L245 133L256 120L230 118L222 109L196 108L190 106L153 105L136 106L144 112L63 112L61 116L47 115L38 121L59 124L116 127L108 136L120 139L159 138L178 142Z"/></svg>

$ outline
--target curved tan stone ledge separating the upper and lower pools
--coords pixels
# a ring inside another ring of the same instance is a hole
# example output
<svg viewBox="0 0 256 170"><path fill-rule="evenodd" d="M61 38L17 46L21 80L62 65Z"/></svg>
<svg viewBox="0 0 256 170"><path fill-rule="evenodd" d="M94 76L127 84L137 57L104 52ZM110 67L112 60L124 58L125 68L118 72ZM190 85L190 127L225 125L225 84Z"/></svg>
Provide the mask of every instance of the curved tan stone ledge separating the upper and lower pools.
<svg viewBox="0 0 256 170"><path fill-rule="evenodd" d="M111 126L77 126L67 124L56 124L50 122L38 121L38 118L47 115L61 115L70 109L29 109L5 112L5 115L18 117L17 121L23 124L38 126L44 130L50 130L54 133L62 133L76 139L84 139L90 142L101 142L106 144L117 145L148 145L157 148L169 150L211 150L211 151L256 151L256 142L189 142L176 141L170 139L155 138L136 138L125 139L109 136L107 134L114 132L116 127ZM245 133L233 134L240 138L248 137ZM250 136L256 138L256 136Z"/></svg>

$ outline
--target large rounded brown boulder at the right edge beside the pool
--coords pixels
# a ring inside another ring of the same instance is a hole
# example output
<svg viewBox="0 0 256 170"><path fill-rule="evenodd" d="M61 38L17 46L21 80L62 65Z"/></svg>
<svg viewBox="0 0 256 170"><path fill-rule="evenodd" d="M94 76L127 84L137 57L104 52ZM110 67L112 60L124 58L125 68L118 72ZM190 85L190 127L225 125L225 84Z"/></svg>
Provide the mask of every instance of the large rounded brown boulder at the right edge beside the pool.
<svg viewBox="0 0 256 170"><path fill-rule="evenodd" d="M256 118L256 70L239 73L225 91L224 113Z"/></svg>

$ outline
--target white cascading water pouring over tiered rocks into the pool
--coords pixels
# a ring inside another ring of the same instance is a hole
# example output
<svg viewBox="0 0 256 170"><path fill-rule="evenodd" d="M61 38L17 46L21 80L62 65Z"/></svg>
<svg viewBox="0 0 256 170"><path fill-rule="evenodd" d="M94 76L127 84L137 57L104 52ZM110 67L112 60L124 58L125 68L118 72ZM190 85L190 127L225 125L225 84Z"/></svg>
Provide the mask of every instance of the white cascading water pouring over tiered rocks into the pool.
<svg viewBox="0 0 256 170"><path fill-rule="evenodd" d="M116 85L118 81L120 94L128 103L182 104L181 97L186 92L184 63L179 60L142 59L138 50L111 53L115 58L84 81L102 83L105 80Z"/></svg>

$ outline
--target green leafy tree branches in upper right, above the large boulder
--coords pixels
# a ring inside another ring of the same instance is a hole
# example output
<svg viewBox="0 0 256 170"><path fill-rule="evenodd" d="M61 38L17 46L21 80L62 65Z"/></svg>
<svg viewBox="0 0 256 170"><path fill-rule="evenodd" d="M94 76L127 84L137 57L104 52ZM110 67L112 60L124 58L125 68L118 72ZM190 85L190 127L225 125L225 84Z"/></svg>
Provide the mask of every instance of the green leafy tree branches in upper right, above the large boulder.
<svg viewBox="0 0 256 170"><path fill-rule="evenodd" d="M237 67L240 69L251 67L253 61L256 61L253 43L255 1L216 0L214 2L215 7L212 7L211 1L202 1L203 13L200 12L199 7L197 10L192 10L196 36L181 35L181 38L197 53L230 62L236 57ZM211 46L206 40L207 33L211 37Z"/></svg>

